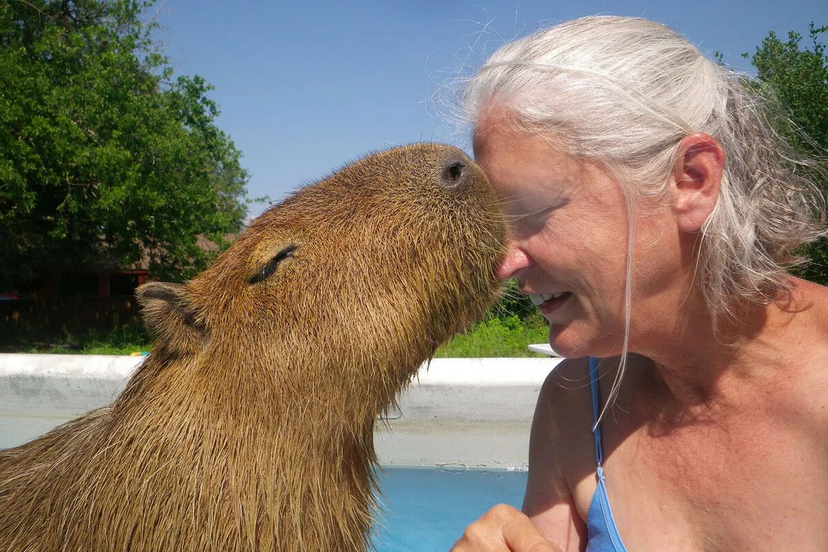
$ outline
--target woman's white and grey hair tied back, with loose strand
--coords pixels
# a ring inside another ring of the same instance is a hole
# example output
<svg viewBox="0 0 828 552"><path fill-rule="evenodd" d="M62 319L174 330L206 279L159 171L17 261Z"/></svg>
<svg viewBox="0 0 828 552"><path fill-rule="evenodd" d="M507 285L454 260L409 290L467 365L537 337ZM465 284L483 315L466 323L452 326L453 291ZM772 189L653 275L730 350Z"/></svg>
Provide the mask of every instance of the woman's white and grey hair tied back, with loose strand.
<svg viewBox="0 0 828 552"><path fill-rule="evenodd" d="M667 26L634 17L584 17L538 31L500 47L465 84L469 121L490 104L507 107L520 126L618 175L630 221L622 364L632 205L667 192L685 136L707 133L726 155L697 269L714 320L737 302L770 302L790 288L786 269L801 260L793 251L825 234L825 197L811 179L821 165L777 134L770 119L779 112L757 88Z"/></svg>

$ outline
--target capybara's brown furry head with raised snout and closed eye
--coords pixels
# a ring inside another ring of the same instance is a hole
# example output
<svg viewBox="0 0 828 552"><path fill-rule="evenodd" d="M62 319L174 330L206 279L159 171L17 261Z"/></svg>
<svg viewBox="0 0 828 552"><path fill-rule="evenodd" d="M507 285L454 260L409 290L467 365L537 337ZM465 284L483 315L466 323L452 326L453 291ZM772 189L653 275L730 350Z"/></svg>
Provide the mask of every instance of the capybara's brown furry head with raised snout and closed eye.
<svg viewBox="0 0 828 552"><path fill-rule="evenodd" d="M493 299L495 202L460 150L399 147L271 207L190 283L138 297L161 354L370 384L387 401L380 383L398 389Z"/></svg>

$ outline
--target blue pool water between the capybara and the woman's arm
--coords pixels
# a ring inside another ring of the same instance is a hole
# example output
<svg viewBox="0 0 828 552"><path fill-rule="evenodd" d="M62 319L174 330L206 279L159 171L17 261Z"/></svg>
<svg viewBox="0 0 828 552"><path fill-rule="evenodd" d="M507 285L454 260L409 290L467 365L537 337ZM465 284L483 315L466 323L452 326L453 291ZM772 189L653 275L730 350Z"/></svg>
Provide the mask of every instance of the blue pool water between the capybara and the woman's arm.
<svg viewBox="0 0 828 552"><path fill-rule="evenodd" d="M378 479L384 496L377 552L448 552L490 507L521 507L527 472L386 468Z"/></svg>

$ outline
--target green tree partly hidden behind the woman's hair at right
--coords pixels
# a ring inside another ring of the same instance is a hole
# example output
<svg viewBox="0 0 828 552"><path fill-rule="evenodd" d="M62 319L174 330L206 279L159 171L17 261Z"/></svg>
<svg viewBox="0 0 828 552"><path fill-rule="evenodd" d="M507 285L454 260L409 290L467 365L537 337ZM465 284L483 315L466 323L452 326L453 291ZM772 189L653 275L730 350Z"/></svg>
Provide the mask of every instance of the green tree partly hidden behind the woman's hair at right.
<svg viewBox="0 0 828 552"><path fill-rule="evenodd" d="M783 42L771 31L756 48L751 59L760 83L787 109L787 117L776 117L777 131L805 155L823 158L828 151L828 57L820 38L828 26L811 22L811 45L802 47L802 35L789 32ZM791 125L791 122L793 125ZM815 174L817 183L828 193L824 172ZM811 264L801 269L803 277L828 285L828 240L806 248Z"/></svg>

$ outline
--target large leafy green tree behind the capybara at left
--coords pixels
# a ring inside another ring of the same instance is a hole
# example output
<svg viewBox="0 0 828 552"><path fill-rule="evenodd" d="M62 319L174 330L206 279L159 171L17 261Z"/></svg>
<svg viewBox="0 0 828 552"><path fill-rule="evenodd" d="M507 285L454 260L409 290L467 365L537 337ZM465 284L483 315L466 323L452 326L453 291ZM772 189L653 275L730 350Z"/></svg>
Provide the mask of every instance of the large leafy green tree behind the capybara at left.
<svg viewBox="0 0 828 552"><path fill-rule="evenodd" d="M204 268L248 175L211 87L173 77L152 0L0 1L0 289L37 274Z"/></svg>

